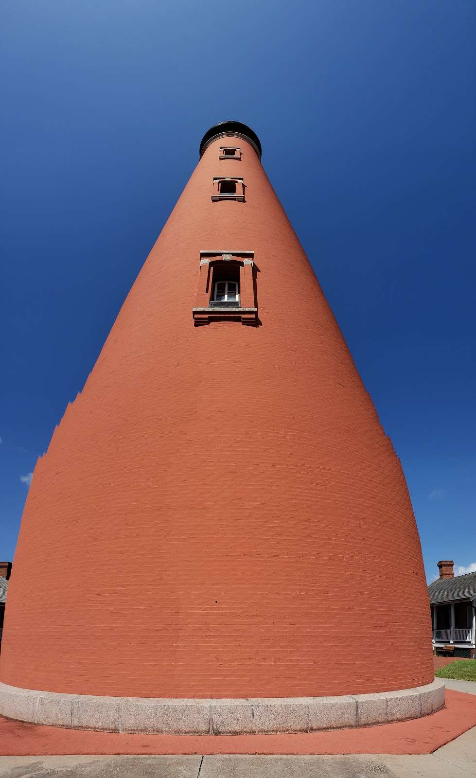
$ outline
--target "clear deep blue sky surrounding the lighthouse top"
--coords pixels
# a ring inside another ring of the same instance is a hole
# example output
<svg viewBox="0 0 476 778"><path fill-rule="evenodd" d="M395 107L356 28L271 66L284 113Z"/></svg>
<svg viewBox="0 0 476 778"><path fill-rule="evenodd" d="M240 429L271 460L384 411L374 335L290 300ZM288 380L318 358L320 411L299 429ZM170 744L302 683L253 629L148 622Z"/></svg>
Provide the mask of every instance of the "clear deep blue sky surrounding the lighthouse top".
<svg viewBox="0 0 476 778"><path fill-rule="evenodd" d="M428 575L476 569L474 0L0 13L0 558L201 136L233 118L401 457Z"/></svg>

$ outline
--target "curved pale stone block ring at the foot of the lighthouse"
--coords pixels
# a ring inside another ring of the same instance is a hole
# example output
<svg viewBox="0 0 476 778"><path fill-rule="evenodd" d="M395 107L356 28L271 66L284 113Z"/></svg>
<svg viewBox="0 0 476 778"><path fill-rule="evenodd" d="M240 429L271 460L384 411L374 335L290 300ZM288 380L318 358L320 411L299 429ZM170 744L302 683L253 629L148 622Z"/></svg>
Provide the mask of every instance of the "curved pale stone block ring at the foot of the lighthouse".
<svg viewBox="0 0 476 778"><path fill-rule="evenodd" d="M31 724L108 732L264 734L390 724L429 716L445 704L444 682L340 697L153 699L94 697L0 683L0 714Z"/></svg>

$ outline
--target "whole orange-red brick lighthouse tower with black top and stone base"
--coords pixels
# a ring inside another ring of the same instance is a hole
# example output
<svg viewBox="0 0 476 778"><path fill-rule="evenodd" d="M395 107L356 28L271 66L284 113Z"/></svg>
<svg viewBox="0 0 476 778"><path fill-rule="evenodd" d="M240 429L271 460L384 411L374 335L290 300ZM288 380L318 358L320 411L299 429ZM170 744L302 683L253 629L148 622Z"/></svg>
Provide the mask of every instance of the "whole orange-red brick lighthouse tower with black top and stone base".
<svg viewBox="0 0 476 778"><path fill-rule="evenodd" d="M0 680L5 716L119 731L444 704L400 461L245 124L205 134L37 462Z"/></svg>

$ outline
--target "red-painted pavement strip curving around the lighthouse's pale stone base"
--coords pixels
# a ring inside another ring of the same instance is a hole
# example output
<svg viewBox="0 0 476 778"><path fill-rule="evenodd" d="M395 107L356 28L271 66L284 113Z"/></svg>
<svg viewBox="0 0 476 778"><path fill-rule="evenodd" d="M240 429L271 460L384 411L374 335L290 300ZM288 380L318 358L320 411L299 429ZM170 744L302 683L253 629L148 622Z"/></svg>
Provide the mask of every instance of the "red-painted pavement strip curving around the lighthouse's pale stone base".
<svg viewBox="0 0 476 778"><path fill-rule="evenodd" d="M377 727L264 735L117 734L0 717L3 756L60 754L430 754L476 726L476 696L446 691L446 708Z"/></svg>

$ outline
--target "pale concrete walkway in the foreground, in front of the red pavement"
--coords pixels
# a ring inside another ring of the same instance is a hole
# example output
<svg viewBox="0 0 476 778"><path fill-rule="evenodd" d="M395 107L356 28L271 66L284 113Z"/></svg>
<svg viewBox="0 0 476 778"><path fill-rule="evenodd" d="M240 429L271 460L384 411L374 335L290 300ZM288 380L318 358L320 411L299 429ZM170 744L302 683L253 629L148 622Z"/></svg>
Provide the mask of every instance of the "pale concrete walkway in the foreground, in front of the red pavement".
<svg viewBox="0 0 476 778"><path fill-rule="evenodd" d="M5 756L2 778L470 778L476 727L427 755Z"/></svg>

